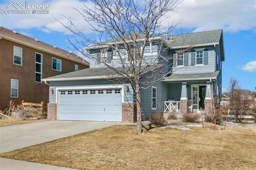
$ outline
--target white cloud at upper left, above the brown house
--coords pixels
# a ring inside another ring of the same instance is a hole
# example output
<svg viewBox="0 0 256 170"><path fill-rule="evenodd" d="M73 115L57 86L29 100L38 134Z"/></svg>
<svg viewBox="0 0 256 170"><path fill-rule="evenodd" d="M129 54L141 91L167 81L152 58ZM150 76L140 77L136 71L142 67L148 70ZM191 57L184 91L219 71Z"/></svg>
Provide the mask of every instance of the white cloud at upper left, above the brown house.
<svg viewBox="0 0 256 170"><path fill-rule="evenodd" d="M11 2L13 1L1 2L0 8ZM68 29L64 28L58 22L60 21L64 25L69 26L70 23L64 16L70 16L78 29L85 29L85 32L88 34L92 32L82 16L76 10L72 9L73 6L80 6L81 2L79 0L27 0L26 2L27 4L50 4L49 14L32 14L31 12L30 14L1 14L1 26L11 30L37 28L47 33L57 31L63 32L64 34L71 34ZM86 6L91 6L91 3L85 2L85 4Z"/></svg>

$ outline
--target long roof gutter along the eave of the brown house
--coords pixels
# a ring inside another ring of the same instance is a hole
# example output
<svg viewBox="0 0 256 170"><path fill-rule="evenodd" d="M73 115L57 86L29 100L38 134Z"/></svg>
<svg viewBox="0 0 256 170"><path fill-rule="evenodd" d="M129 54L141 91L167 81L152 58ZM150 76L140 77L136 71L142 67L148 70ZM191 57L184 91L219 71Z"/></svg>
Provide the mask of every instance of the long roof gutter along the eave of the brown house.
<svg viewBox="0 0 256 170"><path fill-rule="evenodd" d="M53 54L53 55L57 55L57 56L59 56L59 57L62 57L62 58L65 58L65 59L68 59L68 60L71 60L71 61L75 61L75 62L80 63L80 64L83 64L83 65L89 66L89 63L85 63L85 62L84 62L84 59L83 59L83 61L78 61L78 60L73 59L73 58L70 58L70 57L68 57L68 56L60 55L60 54L55 53L55 52L52 52L52 51L47 51L47 50L45 50L45 49L43 49L43 48L36 47L36 46L34 46L34 45L31 45L31 44L29 44L29 43L22 42L22 41L20 41L20 40L16 40L16 39L14 39L14 38L9 38L9 37L6 37L6 36L1 36L1 38L4 38L4 39L9 40L9 41L12 41L12 42L18 42L18 43L23 44L23 45L26 45L26 46L28 46L28 47L32 47L32 48L34 48L34 49L38 49L38 50L40 50L40 51L44 51L44 52L46 52L46 53L50 53L50 54Z"/></svg>

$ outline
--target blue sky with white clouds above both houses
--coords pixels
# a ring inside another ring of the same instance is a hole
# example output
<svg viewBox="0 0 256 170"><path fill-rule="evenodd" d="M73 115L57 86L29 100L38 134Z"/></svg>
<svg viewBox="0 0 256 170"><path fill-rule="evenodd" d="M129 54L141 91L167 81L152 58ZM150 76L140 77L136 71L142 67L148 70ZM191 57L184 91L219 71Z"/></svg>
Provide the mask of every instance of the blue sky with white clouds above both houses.
<svg viewBox="0 0 256 170"><path fill-rule="evenodd" d="M10 3L16 4L17 9L12 5L8 7ZM92 7L90 1L79 0L1 0L0 26L72 51L72 45L66 39L72 34L58 22L68 24L64 16L72 18L78 28L84 28L83 33L88 38L97 37L81 15L72 8L81 3ZM13 10L18 10L20 14L13 13ZM170 18L162 24L163 27L174 21L180 22L176 29L186 30L185 32L222 29L225 51L225 61L222 62L222 93L227 92L231 77L239 81L242 89L256 90L255 0L184 0L176 12L166 15Z"/></svg>

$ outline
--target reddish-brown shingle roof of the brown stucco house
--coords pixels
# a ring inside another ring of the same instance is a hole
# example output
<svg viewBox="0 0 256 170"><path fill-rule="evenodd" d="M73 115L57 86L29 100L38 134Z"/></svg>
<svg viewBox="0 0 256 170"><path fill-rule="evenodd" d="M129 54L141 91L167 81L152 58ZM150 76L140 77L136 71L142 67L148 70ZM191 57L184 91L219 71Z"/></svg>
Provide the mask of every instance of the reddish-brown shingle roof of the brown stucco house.
<svg viewBox="0 0 256 170"><path fill-rule="evenodd" d="M72 59L75 59L77 61L83 62L86 65L89 65L89 63L87 61L85 61L81 57L78 57L74 53L70 53L70 52L68 52L64 49L56 48L56 47L54 47L50 44L40 42L40 41L35 40L33 38L30 38L28 36L19 34L17 32L12 31L12 30L8 30L4 27L0 27L0 36L2 36L3 38L7 37L7 38L10 38L10 39L13 39L13 40L17 40L17 41L20 41L20 42L23 42L23 43L27 43L27 44L32 45L34 47L37 47L39 49L43 49L45 51L50 51L50 52L53 52L53 53L57 53L59 55L64 55L64 56L70 57Z"/></svg>

